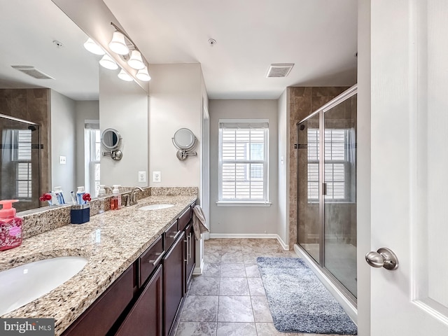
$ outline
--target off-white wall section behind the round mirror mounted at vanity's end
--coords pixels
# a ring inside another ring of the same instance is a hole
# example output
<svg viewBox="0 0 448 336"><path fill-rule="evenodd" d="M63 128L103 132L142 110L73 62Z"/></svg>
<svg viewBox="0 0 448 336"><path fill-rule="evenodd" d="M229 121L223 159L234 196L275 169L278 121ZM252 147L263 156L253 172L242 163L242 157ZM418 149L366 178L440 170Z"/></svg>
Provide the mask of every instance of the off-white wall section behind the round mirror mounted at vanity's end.
<svg viewBox="0 0 448 336"><path fill-rule="evenodd" d="M200 64L153 64L150 85L150 186L200 187L202 70ZM179 128L197 137L197 156L176 158L172 137ZM161 182L153 182L153 172Z"/></svg>

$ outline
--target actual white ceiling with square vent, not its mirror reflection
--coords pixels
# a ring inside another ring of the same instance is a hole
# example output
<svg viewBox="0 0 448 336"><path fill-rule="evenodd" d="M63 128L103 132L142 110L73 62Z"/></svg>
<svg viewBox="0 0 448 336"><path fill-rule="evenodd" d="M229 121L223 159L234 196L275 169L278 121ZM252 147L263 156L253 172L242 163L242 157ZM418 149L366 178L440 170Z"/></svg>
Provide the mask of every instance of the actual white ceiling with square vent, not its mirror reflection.
<svg viewBox="0 0 448 336"><path fill-rule="evenodd" d="M104 3L150 64L200 63L211 99L277 99L287 86L356 83L356 0ZM286 78L266 78L271 63L295 66Z"/></svg>

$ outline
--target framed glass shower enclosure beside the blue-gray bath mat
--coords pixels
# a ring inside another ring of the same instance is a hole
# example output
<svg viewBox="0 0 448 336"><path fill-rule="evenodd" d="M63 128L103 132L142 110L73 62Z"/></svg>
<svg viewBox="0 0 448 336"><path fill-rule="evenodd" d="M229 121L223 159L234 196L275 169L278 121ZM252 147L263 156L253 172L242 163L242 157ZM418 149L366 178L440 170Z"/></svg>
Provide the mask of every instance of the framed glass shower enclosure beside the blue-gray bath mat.
<svg viewBox="0 0 448 336"><path fill-rule="evenodd" d="M297 244L356 306L356 97L297 123Z"/></svg>

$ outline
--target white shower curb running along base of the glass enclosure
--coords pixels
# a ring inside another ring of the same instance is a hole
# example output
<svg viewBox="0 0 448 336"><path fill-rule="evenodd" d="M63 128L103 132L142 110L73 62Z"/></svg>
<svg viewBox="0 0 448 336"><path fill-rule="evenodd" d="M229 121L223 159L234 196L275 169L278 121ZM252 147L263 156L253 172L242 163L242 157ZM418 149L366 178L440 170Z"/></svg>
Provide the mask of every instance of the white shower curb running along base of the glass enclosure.
<svg viewBox="0 0 448 336"><path fill-rule="evenodd" d="M328 277L322 272L322 270L314 264L313 261L311 261L311 257L302 251L302 248L300 248L297 244L294 245L294 251L297 253L297 255L302 258L309 268L311 268L318 277L319 280L323 283L323 286L328 289L328 291L335 297L336 301L341 304L342 308L344 308L347 315L350 316L350 318L353 320L354 323L358 324L358 309L356 309L355 306L345 297L345 295L335 286L334 283L328 279Z"/></svg>

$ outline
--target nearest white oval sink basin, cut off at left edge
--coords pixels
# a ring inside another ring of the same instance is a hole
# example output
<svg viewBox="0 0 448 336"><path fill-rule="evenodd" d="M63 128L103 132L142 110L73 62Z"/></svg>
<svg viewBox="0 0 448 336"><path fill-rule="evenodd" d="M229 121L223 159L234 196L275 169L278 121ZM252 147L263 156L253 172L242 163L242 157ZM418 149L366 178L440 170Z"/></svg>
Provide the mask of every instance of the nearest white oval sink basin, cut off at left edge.
<svg viewBox="0 0 448 336"><path fill-rule="evenodd" d="M62 285L87 264L78 256L44 259L0 272L0 316Z"/></svg>

